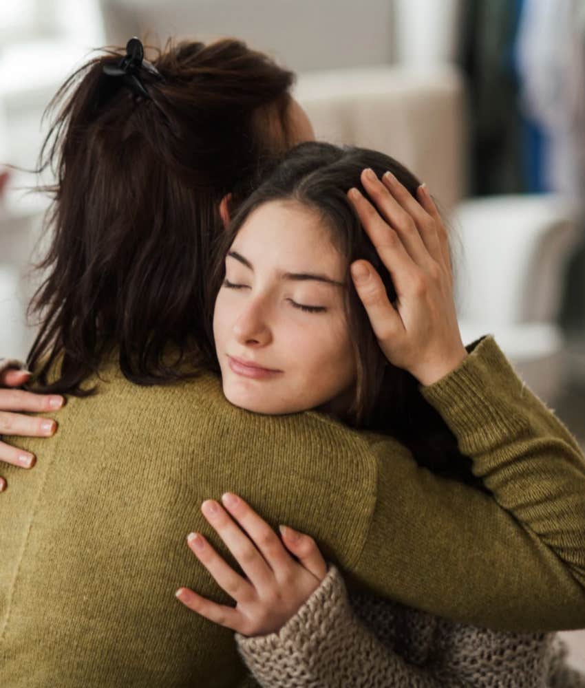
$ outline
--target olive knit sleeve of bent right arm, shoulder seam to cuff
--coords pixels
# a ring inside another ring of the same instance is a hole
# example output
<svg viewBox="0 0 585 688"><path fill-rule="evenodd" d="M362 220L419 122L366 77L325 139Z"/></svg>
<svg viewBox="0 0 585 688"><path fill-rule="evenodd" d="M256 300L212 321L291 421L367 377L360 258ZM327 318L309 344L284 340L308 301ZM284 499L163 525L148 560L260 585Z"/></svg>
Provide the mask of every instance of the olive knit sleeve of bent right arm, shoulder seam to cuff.
<svg viewBox="0 0 585 688"><path fill-rule="evenodd" d="M468 351L421 392L493 496L378 439L377 496L348 581L477 626L584 627L583 455L492 336Z"/></svg>

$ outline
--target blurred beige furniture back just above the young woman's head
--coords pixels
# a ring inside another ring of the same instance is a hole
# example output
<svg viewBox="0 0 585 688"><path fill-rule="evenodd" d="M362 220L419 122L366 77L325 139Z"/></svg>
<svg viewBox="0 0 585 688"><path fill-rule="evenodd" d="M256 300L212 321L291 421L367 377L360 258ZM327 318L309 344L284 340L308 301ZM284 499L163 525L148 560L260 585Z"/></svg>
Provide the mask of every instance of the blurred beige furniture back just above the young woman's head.
<svg viewBox="0 0 585 688"><path fill-rule="evenodd" d="M372 65L305 72L295 95L317 138L392 155L427 183L447 212L460 200L465 104L456 69Z"/></svg>

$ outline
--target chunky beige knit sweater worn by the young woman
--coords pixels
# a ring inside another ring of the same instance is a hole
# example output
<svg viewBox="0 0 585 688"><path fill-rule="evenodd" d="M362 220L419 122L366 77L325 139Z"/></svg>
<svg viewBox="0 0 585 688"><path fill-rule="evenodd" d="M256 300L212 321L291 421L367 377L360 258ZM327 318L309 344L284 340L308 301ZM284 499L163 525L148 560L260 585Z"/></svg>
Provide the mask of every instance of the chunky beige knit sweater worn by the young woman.
<svg viewBox="0 0 585 688"><path fill-rule="evenodd" d="M334 566L278 633L236 640L264 688L585 687L555 634L496 632L348 597Z"/></svg>

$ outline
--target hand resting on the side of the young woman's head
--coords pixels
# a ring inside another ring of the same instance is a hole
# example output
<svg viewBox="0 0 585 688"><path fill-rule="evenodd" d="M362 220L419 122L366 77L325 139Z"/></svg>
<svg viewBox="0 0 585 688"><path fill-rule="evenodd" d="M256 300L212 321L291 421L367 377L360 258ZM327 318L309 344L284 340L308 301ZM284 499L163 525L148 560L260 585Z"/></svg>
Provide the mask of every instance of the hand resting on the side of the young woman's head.
<svg viewBox="0 0 585 688"><path fill-rule="evenodd" d="M396 305L366 261L352 265L355 288L384 355L423 385L454 370L467 356L457 323L447 230L425 185L416 199L387 172L370 169L348 193L363 228L392 275Z"/></svg>

